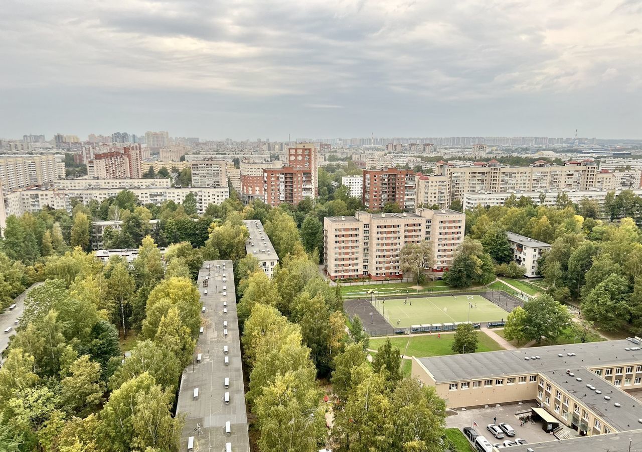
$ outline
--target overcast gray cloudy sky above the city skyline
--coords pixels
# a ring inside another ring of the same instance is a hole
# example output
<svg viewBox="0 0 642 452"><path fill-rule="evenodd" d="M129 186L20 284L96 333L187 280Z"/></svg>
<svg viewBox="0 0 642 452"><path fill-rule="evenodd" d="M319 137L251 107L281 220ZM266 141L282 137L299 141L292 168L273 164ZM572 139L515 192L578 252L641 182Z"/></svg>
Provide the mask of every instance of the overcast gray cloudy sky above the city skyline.
<svg viewBox="0 0 642 452"><path fill-rule="evenodd" d="M0 137L642 138L642 0L1 0Z"/></svg>

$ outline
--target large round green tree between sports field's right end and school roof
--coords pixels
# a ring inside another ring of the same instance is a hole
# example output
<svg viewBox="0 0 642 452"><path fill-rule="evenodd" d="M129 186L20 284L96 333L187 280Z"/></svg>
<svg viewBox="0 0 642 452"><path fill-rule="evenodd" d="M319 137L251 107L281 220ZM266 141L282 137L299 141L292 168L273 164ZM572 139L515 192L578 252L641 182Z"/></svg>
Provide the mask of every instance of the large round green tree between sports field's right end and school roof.
<svg viewBox="0 0 642 452"><path fill-rule="evenodd" d="M526 339L541 343L542 338L555 341L571 321L566 306L553 300L548 294L541 294L524 303L526 311Z"/></svg>

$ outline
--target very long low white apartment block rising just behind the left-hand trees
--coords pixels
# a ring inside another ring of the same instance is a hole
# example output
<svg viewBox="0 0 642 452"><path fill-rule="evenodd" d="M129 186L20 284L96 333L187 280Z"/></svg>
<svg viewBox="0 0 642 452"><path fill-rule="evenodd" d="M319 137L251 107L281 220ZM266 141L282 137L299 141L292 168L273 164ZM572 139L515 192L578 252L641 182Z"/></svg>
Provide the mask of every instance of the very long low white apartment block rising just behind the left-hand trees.
<svg viewBox="0 0 642 452"><path fill-rule="evenodd" d="M64 209L71 212L73 204L80 201L89 203L92 199L101 203L108 198L114 198L122 188L30 188L17 190L4 195L6 215L22 215L24 212L39 212L46 206L54 209ZM193 193L196 196L196 210L204 213L209 204L221 204L229 197L227 185L224 187L202 188L153 188L130 187L130 192L138 198L141 204L153 203L160 205L165 201L182 204L185 197Z"/></svg>

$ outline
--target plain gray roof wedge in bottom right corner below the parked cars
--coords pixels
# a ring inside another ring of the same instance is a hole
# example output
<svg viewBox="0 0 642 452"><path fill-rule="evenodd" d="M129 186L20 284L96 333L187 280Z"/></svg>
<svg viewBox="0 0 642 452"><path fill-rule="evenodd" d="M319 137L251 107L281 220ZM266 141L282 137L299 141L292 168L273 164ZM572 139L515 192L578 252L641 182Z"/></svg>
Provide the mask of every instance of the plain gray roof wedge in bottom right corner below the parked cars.
<svg viewBox="0 0 642 452"><path fill-rule="evenodd" d="M535 452L640 452L642 451L642 430L537 442L500 450L527 452L528 449Z"/></svg>

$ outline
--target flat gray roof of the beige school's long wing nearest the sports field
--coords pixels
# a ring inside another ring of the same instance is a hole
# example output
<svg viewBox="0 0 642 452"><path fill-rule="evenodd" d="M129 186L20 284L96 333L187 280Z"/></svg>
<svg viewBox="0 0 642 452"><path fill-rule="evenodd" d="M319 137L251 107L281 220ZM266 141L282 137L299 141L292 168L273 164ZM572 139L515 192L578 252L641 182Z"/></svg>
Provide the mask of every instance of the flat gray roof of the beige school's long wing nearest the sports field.
<svg viewBox="0 0 642 452"><path fill-rule="evenodd" d="M426 366L437 383L449 383L528 372L553 370L565 372L568 368L609 366L642 361L642 350L625 350L630 347L636 347L636 345L626 339L620 339L618 341L500 350L498 352L432 356L419 358L419 361ZM575 353L575 356L568 356L568 353ZM558 356L559 354L562 356ZM532 356L539 356L540 359L530 359ZM528 361L525 357L529 357Z"/></svg>

